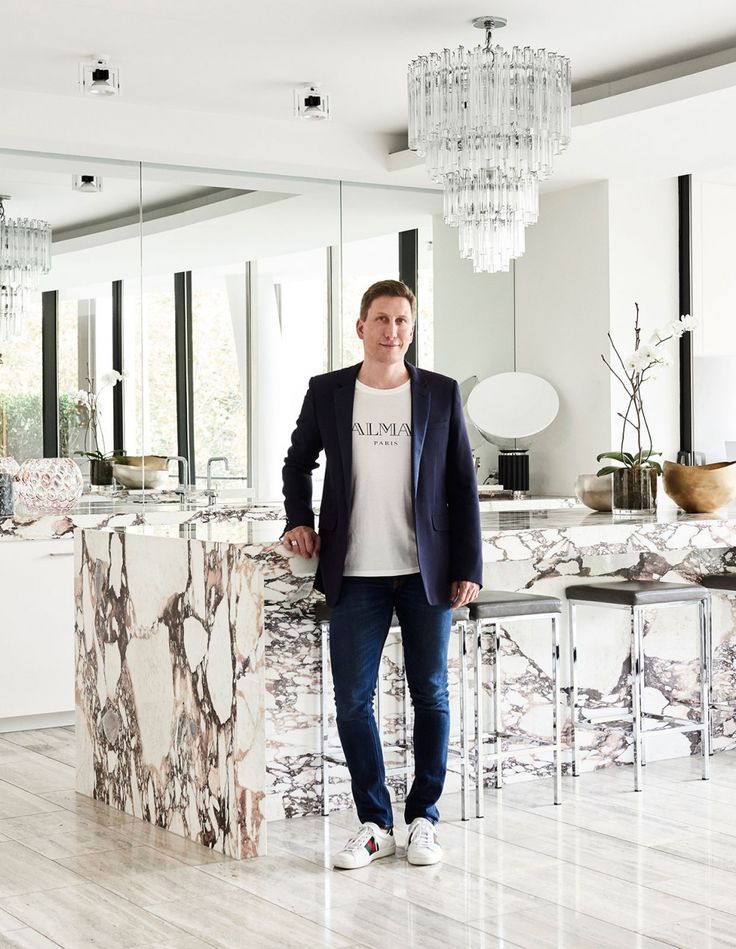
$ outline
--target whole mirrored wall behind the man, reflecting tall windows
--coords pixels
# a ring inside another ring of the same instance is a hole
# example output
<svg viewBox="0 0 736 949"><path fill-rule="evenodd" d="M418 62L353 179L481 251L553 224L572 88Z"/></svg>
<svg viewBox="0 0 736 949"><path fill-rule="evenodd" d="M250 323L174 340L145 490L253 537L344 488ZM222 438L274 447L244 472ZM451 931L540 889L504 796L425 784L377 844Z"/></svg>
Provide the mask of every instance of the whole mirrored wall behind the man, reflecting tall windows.
<svg viewBox="0 0 736 949"><path fill-rule="evenodd" d="M458 259L437 191L14 153L0 173L8 214L52 229L23 332L0 344L0 455L72 456L86 490L280 501L309 378L360 360L379 279L417 295L417 365L512 368L511 275Z"/></svg>

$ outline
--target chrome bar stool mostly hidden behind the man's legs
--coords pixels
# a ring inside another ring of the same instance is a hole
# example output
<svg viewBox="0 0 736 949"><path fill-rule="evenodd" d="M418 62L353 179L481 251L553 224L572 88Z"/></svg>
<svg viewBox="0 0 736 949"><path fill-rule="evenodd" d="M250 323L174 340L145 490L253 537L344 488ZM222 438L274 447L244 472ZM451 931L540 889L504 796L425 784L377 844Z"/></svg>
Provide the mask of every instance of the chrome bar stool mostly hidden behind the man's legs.
<svg viewBox="0 0 736 949"><path fill-rule="evenodd" d="M322 761L322 816L329 817L330 815L330 766L332 765L344 765L345 757L342 754L342 749L331 749L329 745L329 721L327 715L327 695L325 691L325 683L328 678L329 671L329 660L330 660L330 647L329 647L329 634L330 634L330 616L331 609L324 600L320 600L315 604L314 615L317 625L320 629L321 634L321 664L322 664L322 684L320 687L320 757ZM459 638L459 658L460 658L460 669L461 669L461 679L463 677L463 669L465 669L465 679L467 680L467 657L466 657L466 640L467 640L467 625L468 625L468 608L461 607L460 609L452 611L452 626L451 634L455 634ZM399 623L399 618L394 613L391 617L391 630L396 631L401 628ZM384 752L391 751L400 751L404 755L404 763L402 765L397 765L396 767L386 768L386 776L390 777L396 774L403 774L406 779L406 794L409 793L409 783L410 777L413 771L412 766L412 741L411 741L411 696L409 692L409 683L407 681L406 675L404 675L404 696L403 696L403 705L404 705L404 736L401 742L393 742L392 744L385 744L384 742L384 728L383 728L383 701L382 693L380 687L380 674L379 674L379 684L376 688L376 699L375 699L375 713L376 713L376 724L378 725L378 733L381 738L381 748ZM461 762L467 762L468 760L468 731L469 731L469 720L468 720L468 700L467 695L463 694L461 690L460 695L460 734L457 737L450 738L450 752L458 754L460 756ZM459 746L459 747L458 747ZM465 789L468 782L468 771L467 767L461 766L461 785L462 785L462 799L463 799L463 808L465 806ZM463 820L465 820L465 812L463 810Z"/></svg>

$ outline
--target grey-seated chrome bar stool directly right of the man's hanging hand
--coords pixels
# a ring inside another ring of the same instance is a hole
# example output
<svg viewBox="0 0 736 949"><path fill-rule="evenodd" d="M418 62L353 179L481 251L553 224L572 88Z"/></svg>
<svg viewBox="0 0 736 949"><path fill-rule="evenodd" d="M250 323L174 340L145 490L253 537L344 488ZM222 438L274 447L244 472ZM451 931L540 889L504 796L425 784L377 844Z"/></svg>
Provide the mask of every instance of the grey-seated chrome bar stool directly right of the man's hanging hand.
<svg viewBox="0 0 736 949"><path fill-rule="evenodd" d="M475 643L475 813L483 816L484 748L487 742L494 746L496 760L496 787L503 787L503 759L513 754L551 748L554 755L554 802L560 803L560 633L558 618L562 603L555 596L534 593L493 591L482 593L468 605ZM552 625L552 741L515 745L504 750L503 739L516 736L503 730L501 720L501 621L515 623L524 619L549 620ZM490 632L491 676L493 688L493 728L483 729L483 636ZM462 667L461 667L462 668ZM464 792L463 792L464 797ZM463 800L463 818L465 812Z"/></svg>

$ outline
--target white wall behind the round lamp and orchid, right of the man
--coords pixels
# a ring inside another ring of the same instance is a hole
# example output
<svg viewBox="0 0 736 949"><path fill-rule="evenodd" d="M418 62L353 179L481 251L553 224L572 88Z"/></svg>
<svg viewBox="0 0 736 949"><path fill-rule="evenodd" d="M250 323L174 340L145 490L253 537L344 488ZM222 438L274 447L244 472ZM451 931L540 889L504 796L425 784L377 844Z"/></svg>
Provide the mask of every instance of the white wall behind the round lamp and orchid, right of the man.
<svg viewBox="0 0 736 949"><path fill-rule="evenodd" d="M530 450L531 490L568 495L576 475L596 471L596 456L620 443L616 413L626 397L601 360L609 329L627 355L634 301L644 341L679 315L677 181L596 182L544 195L526 238L514 301L513 274L472 274L455 233L435 228L435 362L457 379L513 368L515 309L516 368L547 379L560 397L557 419ZM668 348L673 366L649 384L645 408L655 449L675 458L676 342Z"/></svg>

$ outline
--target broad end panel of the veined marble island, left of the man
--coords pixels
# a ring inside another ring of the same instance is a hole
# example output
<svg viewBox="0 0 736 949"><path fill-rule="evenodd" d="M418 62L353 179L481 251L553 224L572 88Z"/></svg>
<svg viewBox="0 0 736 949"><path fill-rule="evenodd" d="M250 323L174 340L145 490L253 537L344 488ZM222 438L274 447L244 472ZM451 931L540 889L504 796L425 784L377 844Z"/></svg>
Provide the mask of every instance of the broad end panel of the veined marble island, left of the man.
<svg viewBox="0 0 736 949"><path fill-rule="evenodd" d="M145 539L122 532L83 531L76 545L77 790L229 856L257 855L256 563L237 547L165 541L153 567Z"/></svg>

